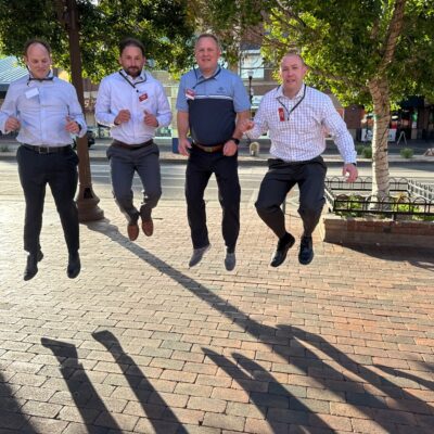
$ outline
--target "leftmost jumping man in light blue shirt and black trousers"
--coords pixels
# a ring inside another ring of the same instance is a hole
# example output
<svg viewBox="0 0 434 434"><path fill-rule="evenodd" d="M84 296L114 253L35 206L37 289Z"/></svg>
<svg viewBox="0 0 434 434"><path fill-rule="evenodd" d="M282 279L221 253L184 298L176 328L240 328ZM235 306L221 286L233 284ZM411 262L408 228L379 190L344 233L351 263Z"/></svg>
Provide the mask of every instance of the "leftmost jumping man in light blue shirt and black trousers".
<svg viewBox="0 0 434 434"><path fill-rule="evenodd" d="M18 131L16 152L26 201L24 250L28 252L24 280L38 272L43 258L39 243L46 187L50 186L68 250L67 276L80 272L78 210L74 201L78 174L72 136L86 135L86 122L73 85L53 76L50 46L31 39L24 47L28 76L9 87L0 112L3 133Z"/></svg>

